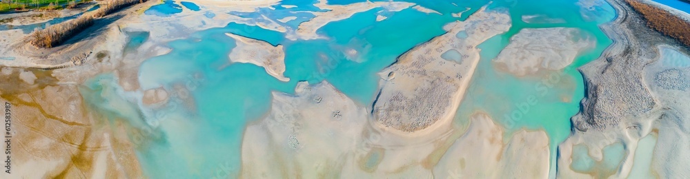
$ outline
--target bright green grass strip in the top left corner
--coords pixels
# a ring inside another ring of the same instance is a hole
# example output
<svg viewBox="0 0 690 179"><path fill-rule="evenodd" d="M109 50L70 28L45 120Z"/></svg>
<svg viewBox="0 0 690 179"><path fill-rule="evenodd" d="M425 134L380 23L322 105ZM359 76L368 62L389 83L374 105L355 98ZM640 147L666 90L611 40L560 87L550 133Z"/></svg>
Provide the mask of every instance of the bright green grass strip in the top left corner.
<svg viewBox="0 0 690 179"><path fill-rule="evenodd" d="M2 0L0 3L0 12L9 12L12 10L58 10L62 8L73 8L78 3L76 0Z"/></svg>

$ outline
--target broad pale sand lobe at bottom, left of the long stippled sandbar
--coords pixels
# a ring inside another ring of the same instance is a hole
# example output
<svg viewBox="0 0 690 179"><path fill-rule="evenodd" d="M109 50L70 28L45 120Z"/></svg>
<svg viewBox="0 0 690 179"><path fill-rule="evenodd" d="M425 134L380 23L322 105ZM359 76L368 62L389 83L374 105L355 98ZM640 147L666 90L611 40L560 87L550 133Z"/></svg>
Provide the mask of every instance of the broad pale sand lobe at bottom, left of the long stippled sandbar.
<svg viewBox="0 0 690 179"><path fill-rule="evenodd" d="M274 92L268 116L246 128L242 178L337 176L353 165L366 109L326 82L300 83L294 96Z"/></svg>

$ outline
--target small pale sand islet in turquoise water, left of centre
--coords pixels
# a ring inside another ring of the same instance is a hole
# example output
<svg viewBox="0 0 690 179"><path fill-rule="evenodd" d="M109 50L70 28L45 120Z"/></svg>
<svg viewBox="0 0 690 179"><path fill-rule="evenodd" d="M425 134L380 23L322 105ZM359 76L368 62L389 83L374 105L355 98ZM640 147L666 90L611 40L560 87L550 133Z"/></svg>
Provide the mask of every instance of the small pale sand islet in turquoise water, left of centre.
<svg viewBox="0 0 690 179"><path fill-rule="evenodd" d="M266 73L279 81L290 81L290 78L283 76L283 72L285 72L283 45L274 47L266 41L250 39L236 34L225 34L237 42L237 47L230 52L230 62L252 63L264 67Z"/></svg>

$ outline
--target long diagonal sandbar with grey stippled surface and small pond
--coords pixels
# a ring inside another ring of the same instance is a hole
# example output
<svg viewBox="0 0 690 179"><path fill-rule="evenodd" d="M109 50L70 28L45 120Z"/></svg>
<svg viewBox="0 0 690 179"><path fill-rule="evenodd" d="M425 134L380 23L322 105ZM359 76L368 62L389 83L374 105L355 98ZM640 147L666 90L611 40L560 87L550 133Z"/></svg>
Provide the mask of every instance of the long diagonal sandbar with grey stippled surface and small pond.
<svg viewBox="0 0 690 179"><path fill-rule="evenodd" d="M510 17L482 10L466 21L444 27L446 34L418 45L380 72L379 95L372 114L380 125L400 131L419 131L455 115L480 59L476 46L509 30ZM464 31L469 37L458 39ZM444 52L456 50L462 60L446 61Z"/></svg>

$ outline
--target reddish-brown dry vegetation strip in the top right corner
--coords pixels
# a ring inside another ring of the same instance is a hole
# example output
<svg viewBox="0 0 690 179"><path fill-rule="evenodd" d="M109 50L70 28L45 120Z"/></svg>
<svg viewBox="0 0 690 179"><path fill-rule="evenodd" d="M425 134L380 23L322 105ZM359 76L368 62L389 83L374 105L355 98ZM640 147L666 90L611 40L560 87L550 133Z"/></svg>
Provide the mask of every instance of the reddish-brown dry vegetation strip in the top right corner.
<svg viewBox="0 0 690 179"><path fill-rule="evenodd" d="M647 20L647 26L664 35L677 39L680 43L690 47L690 22L676 17L661 8L641 3L636 0L625 0L635 11Z"/></svg>

